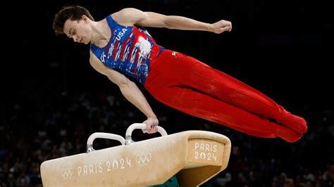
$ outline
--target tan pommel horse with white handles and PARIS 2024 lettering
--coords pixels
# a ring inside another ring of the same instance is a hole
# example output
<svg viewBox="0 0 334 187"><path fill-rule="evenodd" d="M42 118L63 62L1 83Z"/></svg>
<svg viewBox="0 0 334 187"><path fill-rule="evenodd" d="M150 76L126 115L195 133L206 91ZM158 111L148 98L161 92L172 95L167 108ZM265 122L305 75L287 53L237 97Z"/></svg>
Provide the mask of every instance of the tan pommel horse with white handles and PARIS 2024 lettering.
<svg viewBox="0 0 334 187"><path fill-rule="evenodd" d="M230 139L210 131L183 131L144 141L132 141L132 124L125 138L94 133L87 153L47 160L41 165L43 186L155 186L176 175L181 187L199 186L228 166ZM122 145L94 150L95 138L111 138Z"/></svg>

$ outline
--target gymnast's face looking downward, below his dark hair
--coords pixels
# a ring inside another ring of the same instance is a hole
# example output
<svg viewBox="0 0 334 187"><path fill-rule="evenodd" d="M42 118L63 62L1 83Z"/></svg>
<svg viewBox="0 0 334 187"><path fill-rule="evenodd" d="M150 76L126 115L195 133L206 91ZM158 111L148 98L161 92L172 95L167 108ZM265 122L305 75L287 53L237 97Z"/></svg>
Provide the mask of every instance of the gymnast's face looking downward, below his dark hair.
<svg viewBox="0 0 334 187"><path fill-rule="evenodd" d="M85 15L80 20L66 20L63 32L73 41L83 44L89 44L92 38L92 27Z"/></svg>

